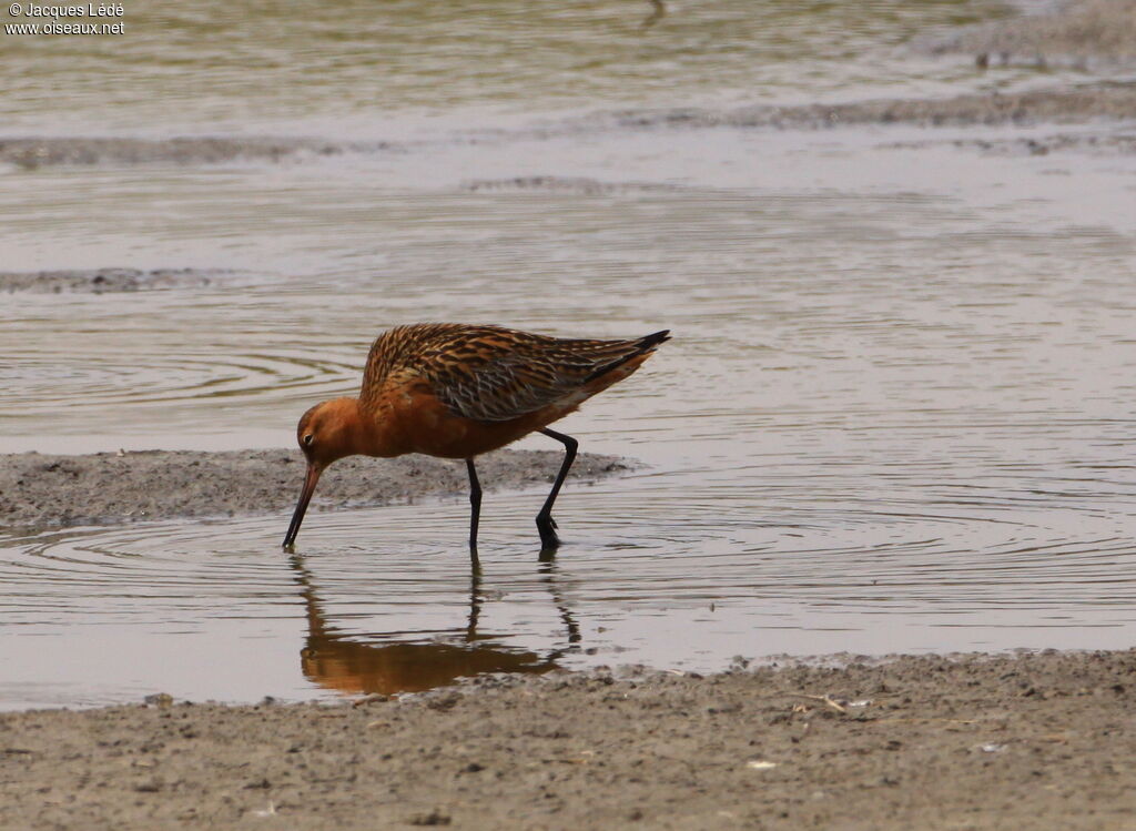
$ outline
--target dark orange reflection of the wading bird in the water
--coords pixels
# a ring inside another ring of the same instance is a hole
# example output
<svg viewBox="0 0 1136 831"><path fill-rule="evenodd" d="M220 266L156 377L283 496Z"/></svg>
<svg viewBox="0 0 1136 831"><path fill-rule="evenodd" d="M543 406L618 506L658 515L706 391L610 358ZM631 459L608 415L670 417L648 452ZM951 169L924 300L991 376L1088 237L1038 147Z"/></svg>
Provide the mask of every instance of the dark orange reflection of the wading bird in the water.
<svg viewBox="0 0 1136 831"><path fill-rule="evenodd" d="M331 625L312 587L311 574L299 556L291 558L295 581L308 616L308 638L300 653L301 667L309 681L341 692L394 695L444 687L459 678L492 672L541 674L557 667L557 660L576 649L579 628L553 584L553 564L545 562L542 574L549 584L560 617L568 629L569 646L546 656L494 643L477 634L483 604L481 570L474 565L469 583L469 615L458 643L366 643Z"/></svg>

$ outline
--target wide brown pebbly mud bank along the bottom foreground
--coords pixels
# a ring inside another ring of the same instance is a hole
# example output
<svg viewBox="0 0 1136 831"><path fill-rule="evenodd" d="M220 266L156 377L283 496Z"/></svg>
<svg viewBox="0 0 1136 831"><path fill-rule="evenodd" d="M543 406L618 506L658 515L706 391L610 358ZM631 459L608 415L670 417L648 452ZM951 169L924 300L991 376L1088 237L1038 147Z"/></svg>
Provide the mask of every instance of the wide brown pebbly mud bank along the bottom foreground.
<svg viewBox="0 0 1136 831"><path fill-rule="evenodd" d="M0 826L1131 828L1134 691L1050 653L9 713Z"/></svg>

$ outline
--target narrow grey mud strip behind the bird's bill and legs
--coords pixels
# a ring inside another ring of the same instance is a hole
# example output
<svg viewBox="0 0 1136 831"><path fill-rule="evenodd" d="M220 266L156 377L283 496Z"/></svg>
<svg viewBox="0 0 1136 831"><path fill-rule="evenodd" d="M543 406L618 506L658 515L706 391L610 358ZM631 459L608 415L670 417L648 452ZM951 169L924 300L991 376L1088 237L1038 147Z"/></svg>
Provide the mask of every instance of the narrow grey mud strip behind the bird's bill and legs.
<svg viewBox="0 0 1136 831"><path fill-rule="evenodd" d="M557 451L501 450L478 459L478 477L486 490L551 482L562 457ZM569 482L632 466L613 456L580 454ZM298 450L0 456L0 527L274 513L293 507L303 472ZM466 493L468 487L461 463L426 456L348 458L324 474L311 509L407 502Z"/></svg>

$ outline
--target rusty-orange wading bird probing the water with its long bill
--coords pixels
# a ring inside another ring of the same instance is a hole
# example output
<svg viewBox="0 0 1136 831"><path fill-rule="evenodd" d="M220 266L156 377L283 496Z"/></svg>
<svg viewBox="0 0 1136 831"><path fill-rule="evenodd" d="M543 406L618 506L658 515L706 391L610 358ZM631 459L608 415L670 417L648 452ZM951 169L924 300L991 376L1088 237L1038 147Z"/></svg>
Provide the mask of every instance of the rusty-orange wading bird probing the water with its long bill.
<svg viewBox="0 0 1136 831"><path fill-rule="evenodd" d="M558 545L552 505L577 441L548 425L635 372L667 332L635 340L568 340L500 326L424 323L384 332L370 348L359 398L316 405L296 439L308 458L284 547L295 541L324 468L344 456L421 452L465 459L469 472L469 546L477 546L482 488L474 458L534 431L565 446L565 459L536 527Z"/></svg>

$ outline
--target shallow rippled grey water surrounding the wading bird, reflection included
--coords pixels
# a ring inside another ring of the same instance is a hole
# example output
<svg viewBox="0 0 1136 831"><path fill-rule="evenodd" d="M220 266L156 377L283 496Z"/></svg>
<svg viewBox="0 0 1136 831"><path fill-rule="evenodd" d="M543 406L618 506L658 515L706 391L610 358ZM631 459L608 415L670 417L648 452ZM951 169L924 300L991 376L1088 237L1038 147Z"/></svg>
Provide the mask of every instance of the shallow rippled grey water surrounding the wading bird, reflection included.
<svg viewBox="0 0 1136 831"><path fill-rule="evenodd" d="M461 17L395 6L384 14L406 15L400 31L460 32L474 57L545 26L506 15L475 36L463 20L488 3ZM562 423L582 449L649 467L569 481L551 562L537 558L537 492L486 496L479 573L463 498L312 515L295 558L278 549L286 516L0 537L0 707L391 692L553 665L710 671L735 655L1130 646L1131 157L896 149L928 138L897 126L562 121L1030 82L901 49L997 8L863 6L794 17L785 5L787 27L740 25L740 3L673 6L646 35L611 22L615 5L563 7L562 36L482 82L459 72L470 55L393 34L378 77L360 63L365 32L326 47L326 72L301 82L279 57L299 48L286 26L258 42L267 68L249 75L253 52L216 60L226 39L251 49L248 24L208 48L170 34L220 19L209 6L167 14L165 34L115 55L20 44L15 59L36 70L0 95L10 134L399 143L0 174L5 268L229 269L204 289L0 298L0 451L290 446L298 415L350 392L369 340L409 321L666 326L675 340ZM335 40L336 19L310 25ZM854 55L825 45L843 31ZM650 44L665 55L649 60ZM610 59L571 63L596 47ZM36 108L68 50L117 73L114 107L76 81ZM156 98L172 55L214 92ZM676 55L698 72L660 80L652 61ZM566 66L578 83L552 84ZM382 117L364 107L379 89ZM214 108L226 115L210 121Z"/></svg>

